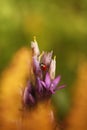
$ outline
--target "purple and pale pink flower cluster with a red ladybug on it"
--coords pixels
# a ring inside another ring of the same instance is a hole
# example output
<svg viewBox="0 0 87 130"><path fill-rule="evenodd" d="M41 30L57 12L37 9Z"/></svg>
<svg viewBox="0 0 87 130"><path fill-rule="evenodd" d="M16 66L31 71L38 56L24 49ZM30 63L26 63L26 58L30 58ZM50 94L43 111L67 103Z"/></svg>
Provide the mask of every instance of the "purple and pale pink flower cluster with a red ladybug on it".
<svg viewBox="0 0 87 130"><path fill-rule="evenodd" d="M64 88L59 86L61 76L55 78L56 57L52 58L53 51L40 54L36 39L31 42L32 48L32 75L34 78L28 81L23 93L23 102L27 106L33 106L39 100L50 98L56 90Z"/></svg>

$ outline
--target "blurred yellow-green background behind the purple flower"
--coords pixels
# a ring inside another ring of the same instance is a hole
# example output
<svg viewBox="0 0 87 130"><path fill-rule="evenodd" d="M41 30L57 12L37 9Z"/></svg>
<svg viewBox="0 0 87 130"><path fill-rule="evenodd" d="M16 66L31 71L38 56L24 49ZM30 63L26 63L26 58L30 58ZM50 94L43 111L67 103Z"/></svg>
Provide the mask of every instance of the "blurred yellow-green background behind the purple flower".
<svg viewBox="0 0 87 130"><path fill-rule="evenodd" d="M66 84L52 97L62 120L72 107L79 64L87 60L87 0L0 0L0 74L34 35L41 51L54 51L56 74Z"/></svg>

